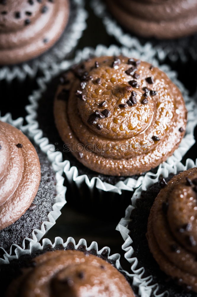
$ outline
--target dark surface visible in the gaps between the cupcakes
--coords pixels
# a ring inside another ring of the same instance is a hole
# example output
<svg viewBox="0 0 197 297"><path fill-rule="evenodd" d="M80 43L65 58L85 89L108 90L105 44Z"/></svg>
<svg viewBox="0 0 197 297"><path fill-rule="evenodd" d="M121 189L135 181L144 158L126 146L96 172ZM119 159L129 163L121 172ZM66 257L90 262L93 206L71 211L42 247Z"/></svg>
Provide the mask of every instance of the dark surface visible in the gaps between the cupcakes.
<svg viewBox="0 0 197 297"><path fill-rule="evenodd" d="M87 20L87 29L84 31L83 37L80 39L77 49L82 49L86 46L96 47L98 44L104 44L109 46L111 44L118 44L118 42L106 34L106 30L102 24L102 21L97 18L89 7L89 1L86 1L86 8L89 12ZM73 53L74 56L74 53ZM182 64L180 61L171 63L168 59L165 61L170 64L172 69L177 70L179 73L179 79L185 84L190 91L190 94L194 94L196 91L196 61L189 60L188 63ZM37 77L41 76L38 73ZM13 119L17 119L27 115L25 111L25 105L28 104L28 96L32 93L33 89L37 88L36 80L26 79L24 83L18 83L14 80L12 84L8 85L5 81L0 82L0 110L1 115L7 112L12 113ZM195 136L197 135L195 131ZM183 159L185 162L187 157L196 159L196 144L190 149ZM120 197L121 199L121 197ZM97 207L97 201L95 201L95 207ZM102 208L105 210L102 212ZM121 264L123 268L130 271L130 265L124 259L124 252L121 249L123 244L122 236L115 230L118 222L123 214L111 217L107 215L105 204L103 204L100 211L100 215L94 215L94 207L88 209L89 215L83 211L77 211L73 208L72 203L67 203L62 209L62 215L57 219L56 225L49 230L46 237L54 242L55 236L62 237L65 241L67 237L72 236L75 241L78 242L80 238L85 238L88 245L92 241L97 241L99 249L104 246L111 248L111 253L119 252L122 255Z"/></svg>

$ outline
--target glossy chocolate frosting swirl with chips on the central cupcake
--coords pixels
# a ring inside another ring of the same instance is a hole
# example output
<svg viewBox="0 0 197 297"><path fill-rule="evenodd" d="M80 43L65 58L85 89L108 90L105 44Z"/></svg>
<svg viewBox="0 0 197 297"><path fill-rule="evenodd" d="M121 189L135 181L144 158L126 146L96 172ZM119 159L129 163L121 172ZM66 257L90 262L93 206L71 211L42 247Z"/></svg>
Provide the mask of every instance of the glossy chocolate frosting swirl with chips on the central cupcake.
<svg viewBox="0 0 197 297"><path fill-rule="evenodd" d="M72 154L114 176L139 174L165 161L187 121L182 94L167 75L122 56L91 59L63 75L54 115Z"/></svg>

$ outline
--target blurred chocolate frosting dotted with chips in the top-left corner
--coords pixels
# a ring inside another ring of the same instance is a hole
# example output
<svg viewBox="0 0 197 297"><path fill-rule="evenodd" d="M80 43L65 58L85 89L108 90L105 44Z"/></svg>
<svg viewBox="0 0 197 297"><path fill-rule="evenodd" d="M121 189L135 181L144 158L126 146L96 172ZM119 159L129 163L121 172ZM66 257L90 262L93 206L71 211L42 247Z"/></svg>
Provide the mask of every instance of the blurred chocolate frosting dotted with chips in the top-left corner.
<svg viewBox="0 0 197 297"><path fill-rule="evenodd" d="M51 48L68 12L68 0L1 0L0 65L27 61Z"/></svg>

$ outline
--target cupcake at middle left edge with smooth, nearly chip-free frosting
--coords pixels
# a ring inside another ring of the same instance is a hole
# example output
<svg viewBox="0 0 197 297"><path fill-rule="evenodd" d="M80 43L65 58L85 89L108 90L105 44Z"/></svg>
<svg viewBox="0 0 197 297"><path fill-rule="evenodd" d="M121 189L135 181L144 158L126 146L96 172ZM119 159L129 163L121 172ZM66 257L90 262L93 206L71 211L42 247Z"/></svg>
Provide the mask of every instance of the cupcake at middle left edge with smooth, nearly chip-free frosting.
<svg viewBox="0 0 197 297"><path fill-rule="evenodd" d="M64 188L39 146L2 121L0 165L0 247L9 251L12 244L22 246L26 237L40 240L54 225L65 203Z"/></svg>

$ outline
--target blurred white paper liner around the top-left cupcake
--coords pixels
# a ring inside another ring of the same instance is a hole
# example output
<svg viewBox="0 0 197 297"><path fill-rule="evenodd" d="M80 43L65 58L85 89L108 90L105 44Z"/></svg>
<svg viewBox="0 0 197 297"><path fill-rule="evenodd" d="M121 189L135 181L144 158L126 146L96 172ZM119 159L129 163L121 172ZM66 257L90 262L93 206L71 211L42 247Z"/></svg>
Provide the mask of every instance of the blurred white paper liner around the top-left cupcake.
<svg viewBox="0 0 197 297"><path fill-rule="evenodd" d="M69 22L60 40L46 53L33 60L16 66L0 67L0 80L6 79L7 82L10 82L14 78L19 81L24 81L27 76L34 78L38 70L43 71L51 64L56 64L57 61L65 59L75 48L87 27L85 20L88 13L85 11L84 6L84 0L70 0Z"/></svg>

